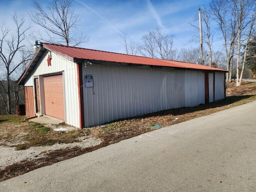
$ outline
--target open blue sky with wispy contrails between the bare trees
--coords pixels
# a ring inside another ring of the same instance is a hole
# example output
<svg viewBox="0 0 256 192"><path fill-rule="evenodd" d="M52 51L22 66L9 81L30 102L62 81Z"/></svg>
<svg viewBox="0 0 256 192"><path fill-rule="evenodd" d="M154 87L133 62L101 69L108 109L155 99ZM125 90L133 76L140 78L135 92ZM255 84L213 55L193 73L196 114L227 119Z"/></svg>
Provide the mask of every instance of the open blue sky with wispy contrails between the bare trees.
<svg viewBox="0 0 256 192"><path fill-rule="evenodd" d="M25 16L34 10L30 0L0 0L0 19L8 23L10 14ZM40 1L47 4L48 0ZM90 38L84 48L124 53L121 35L128 41L140 41L148 31L160 28L173 35L175 48L198 46L189 43L199 32L190 23L199 25L193 16L198 7L208 7L210 0L74 0L73 8L80 16L80 28ZM203 26L204 27L204 26ZM35 29L36 27L34 27ZM31 43L34 40L31 40ZM218 50L218 47L213 47Z"/></svg>

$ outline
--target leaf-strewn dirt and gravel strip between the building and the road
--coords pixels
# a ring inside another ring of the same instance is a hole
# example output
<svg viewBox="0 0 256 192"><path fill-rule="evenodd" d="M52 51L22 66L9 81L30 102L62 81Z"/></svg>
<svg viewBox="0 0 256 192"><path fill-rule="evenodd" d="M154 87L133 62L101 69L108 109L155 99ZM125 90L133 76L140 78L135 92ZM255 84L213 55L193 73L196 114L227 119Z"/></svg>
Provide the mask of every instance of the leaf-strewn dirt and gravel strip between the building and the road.
<svg viewBox="0 0 256 192"><path fill-rule="evenodd" d="M159 126L177 124L251 102L256 100L256 83L242 82L236 87L232 82L226 89L226 96L210 104L164 110L83 130L71 128L67 132L54 132L54 127L49 129L46 125L24 122L24 117L1 116L0 162L3 163L0 163L0 181L156 130ZM55 128L65 126L68 128L63 124ZM25 155L20 160L4 162L2 156L8 153L6 151L13 157L20 157L19 153Z"/></svg>

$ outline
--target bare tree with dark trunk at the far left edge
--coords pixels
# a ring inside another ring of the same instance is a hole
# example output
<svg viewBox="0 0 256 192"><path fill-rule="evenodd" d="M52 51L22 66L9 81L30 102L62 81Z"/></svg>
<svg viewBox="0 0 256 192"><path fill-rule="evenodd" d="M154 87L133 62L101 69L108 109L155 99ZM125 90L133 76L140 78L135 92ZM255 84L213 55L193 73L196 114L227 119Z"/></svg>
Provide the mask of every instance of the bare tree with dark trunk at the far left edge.
<svg viewBox="0 0 256 192"><path fill-rule="evenodd" d="M24 51L25 33L30 29L30 26L25 28L24 18L19 20L16 14L12 16L12 20L16 30L11 30L6 24L0 25L0 66L5 74L5 79L0 80L2 87L0 96L3 98L3 93L6 94L7 114L11 114L11 75L31 58L30 52Z"/></svg>

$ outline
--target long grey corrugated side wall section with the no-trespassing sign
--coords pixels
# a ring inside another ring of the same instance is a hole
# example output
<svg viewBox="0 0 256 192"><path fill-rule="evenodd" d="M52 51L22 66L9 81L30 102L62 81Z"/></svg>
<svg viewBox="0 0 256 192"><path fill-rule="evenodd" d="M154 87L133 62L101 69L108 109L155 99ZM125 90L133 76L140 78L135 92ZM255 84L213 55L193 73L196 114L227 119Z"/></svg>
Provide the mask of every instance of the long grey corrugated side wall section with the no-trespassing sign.
<svg viewBox="0 0 256 192"><path fill-rule="evenodd" d="M84 86L86 127L185 103L183 70L93 64L83 69L85 75L94 79L93 88Z"/></svg>

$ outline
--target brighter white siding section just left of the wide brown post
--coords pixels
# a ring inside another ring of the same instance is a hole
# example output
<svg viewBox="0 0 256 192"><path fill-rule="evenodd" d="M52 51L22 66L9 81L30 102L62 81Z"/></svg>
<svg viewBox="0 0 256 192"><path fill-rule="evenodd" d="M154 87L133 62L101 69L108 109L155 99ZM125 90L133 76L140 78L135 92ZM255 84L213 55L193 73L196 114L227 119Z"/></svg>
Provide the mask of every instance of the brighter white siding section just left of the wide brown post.
<svg viewBox="0 0 256 192"><path fill-rule="evenodd" d="M185 106L197 106L204 103L204 73L185 71Z"/></svg>

